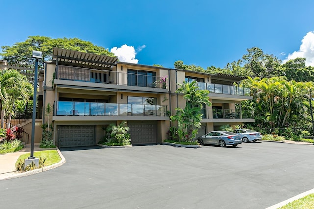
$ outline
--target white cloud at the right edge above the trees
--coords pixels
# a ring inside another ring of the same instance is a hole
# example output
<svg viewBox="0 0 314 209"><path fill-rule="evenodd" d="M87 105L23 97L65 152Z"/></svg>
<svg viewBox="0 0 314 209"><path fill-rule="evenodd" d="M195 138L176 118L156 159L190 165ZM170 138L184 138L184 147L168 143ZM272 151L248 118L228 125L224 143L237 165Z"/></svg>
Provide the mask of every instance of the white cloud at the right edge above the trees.
<svg viewBox="0 0 314 209"><path fill-rule="evenodd" d="M314 31L308 32L303 37L299 51L289 54L287 59L283 60L283 63L297 57L304 57L306 66L314 66Z"/></svg>

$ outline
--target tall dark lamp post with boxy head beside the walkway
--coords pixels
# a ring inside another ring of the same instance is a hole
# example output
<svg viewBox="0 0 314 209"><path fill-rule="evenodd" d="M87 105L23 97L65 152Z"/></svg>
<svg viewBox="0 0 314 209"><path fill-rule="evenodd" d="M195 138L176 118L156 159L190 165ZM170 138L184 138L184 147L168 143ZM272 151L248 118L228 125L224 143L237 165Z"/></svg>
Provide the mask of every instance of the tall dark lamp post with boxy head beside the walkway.
<svg viewBox="0 0 314 209"><path fill-rule="evenodd" d="M31 147L30 147L30 157L28 157L28 159L35 159L35 157L34 157L34 140L35 140L36 103L37 103L38 59L43 58L43 52L33 51L33 58L36 59L36 62L35 62L35 80L34 80L34 96L33 96L33 119L32 119L32 131L31 131Z"/></svg>

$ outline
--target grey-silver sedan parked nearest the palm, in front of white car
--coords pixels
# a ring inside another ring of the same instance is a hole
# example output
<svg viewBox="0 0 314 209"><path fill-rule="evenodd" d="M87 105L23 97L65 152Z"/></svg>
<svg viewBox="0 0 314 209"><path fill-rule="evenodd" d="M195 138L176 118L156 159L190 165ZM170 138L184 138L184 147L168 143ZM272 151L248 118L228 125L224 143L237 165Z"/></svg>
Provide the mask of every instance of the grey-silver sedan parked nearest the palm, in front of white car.
<svg viewBox="0 0 314 209"><path fill-rule="evenodd" d="M229 131L211 131L197 139L200 145L211 144L225 147L226 145L232 145L236 147L242 143L240 135Z"/></svg>

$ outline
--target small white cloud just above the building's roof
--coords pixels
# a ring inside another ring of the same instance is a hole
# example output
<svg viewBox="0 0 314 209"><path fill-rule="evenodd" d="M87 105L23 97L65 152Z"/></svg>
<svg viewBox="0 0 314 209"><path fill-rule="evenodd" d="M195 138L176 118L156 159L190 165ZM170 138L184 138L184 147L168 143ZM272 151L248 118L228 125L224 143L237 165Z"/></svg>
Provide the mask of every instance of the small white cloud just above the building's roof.
<svg viewBox="0 0 314 209"><path fill-rule="evenodd" d="M138 63L138 59L135 59L134 46L122 45L120 48L113 47L110 52L114 53L121 62Z"/></svg>

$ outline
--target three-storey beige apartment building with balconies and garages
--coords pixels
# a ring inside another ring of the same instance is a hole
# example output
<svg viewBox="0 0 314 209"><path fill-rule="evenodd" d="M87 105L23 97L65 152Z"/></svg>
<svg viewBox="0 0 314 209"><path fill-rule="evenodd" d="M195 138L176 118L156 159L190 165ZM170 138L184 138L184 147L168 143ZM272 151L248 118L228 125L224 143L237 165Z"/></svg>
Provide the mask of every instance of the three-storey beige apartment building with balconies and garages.
<svg viewBox="0 0 314 209"><path fill-rule="evenodd" d="M212 106L203 108L199 135L224 124L254 122L238 105L252 99L238 86L245 77L125 63L61 48L53 49L53 60L45 65L42 103L50 103L53 113L43 121L52 122L58 147L95 145L109 124L121 121L127 121L133 145L161 143L168 138L169 116L185 105L175 93L183 81L196 80L210 91Z"/></svg>

